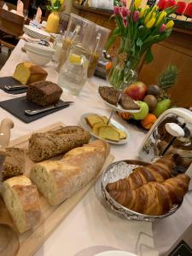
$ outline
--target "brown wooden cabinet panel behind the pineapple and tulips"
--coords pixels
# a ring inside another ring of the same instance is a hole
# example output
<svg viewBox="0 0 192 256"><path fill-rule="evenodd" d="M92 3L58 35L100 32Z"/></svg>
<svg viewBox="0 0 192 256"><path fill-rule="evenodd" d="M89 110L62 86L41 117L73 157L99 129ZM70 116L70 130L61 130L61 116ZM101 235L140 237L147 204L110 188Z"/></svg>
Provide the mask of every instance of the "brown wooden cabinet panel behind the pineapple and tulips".
<svg viewBox="0 0 192 256"><path fill-rule="evenodd" d="M177 83L169 90L178 107L192 106L192 31L174 28L170 38L154 44L154 61L144 64L139 79L146 84L155 84L158 75L169 64L178 67Z"/></svg>

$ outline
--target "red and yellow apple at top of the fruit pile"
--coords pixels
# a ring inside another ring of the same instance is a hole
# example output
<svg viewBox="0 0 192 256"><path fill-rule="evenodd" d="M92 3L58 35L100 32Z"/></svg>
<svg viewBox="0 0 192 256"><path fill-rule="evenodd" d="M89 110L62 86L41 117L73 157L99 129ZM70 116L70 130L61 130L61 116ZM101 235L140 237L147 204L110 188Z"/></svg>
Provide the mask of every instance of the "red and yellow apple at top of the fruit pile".
<svg viewBox="0 0 192 256"><path fill-rule="evenodd" d="M135 101L142 101L147 91L148 87L143 82L136 82L126 87L124 93Z"/></svg>

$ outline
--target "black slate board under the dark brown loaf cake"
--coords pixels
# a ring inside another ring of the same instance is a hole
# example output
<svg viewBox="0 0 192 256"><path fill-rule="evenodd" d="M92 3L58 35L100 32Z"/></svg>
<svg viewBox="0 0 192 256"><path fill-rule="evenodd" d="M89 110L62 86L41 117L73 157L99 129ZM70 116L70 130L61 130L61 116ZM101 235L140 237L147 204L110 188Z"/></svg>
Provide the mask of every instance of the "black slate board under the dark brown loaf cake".
<svg viewBox="0 0 192 256"><path fill-rule="evenodd" d="M60 102L62 101L60 100ZM38 113L36 115L30 116L25 113L26 109L34 110L34 109L41 109L43 107L39 106L36 103L26 101L26 96L23 96L23 97L11 99L8 101L0 102L0 107L7 110L9 113L12 113L16 118L20 119L21 121L25 123L31 123L32 121L41 119L50 113L55 113L61 110L62 108L67 108L69 107L69 105L61 108L51 109L44 113Z"/></svg>

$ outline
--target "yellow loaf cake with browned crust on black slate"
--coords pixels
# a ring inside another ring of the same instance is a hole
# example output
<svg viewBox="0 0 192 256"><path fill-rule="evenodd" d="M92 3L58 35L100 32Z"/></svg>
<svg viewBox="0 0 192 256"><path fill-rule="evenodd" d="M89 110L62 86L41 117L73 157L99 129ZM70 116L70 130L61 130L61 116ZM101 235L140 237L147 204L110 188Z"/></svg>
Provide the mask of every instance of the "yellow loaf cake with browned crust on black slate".
<svg viewBox="0 0 192 256"><path fill-rule="evenodd" d="M15 68L14 78L21 84L32 84L38 81L45 81L48 73L31 62L23 62Z"/></svg>

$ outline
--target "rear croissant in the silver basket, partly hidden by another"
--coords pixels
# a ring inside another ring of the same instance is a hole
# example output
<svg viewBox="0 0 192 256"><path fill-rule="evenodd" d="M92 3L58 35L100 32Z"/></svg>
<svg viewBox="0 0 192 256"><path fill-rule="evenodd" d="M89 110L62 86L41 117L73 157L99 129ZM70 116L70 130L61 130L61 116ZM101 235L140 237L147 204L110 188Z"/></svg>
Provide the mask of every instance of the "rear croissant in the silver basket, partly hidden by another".
<svg viewBox="0 0 192 256"><path fill-rule="evenodd" d="M176 155L169 154L160 158L154 164L137 167L129 177L119 179L114 183L108 183L106 189L111 190L132 190L137 189L148 182L164 182L171 177L171 173L176 166Z"/></svg>

